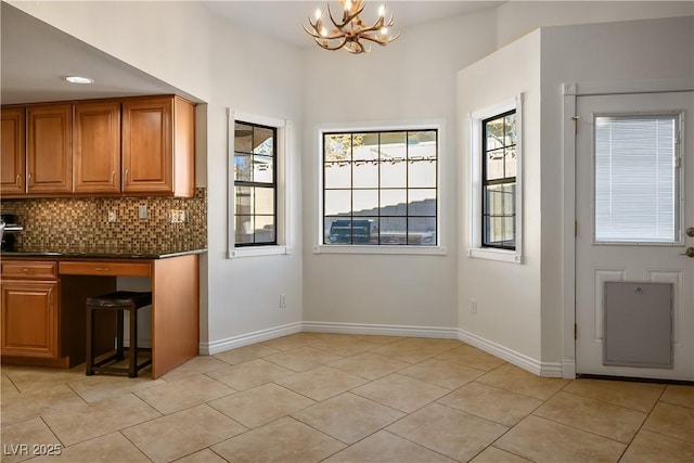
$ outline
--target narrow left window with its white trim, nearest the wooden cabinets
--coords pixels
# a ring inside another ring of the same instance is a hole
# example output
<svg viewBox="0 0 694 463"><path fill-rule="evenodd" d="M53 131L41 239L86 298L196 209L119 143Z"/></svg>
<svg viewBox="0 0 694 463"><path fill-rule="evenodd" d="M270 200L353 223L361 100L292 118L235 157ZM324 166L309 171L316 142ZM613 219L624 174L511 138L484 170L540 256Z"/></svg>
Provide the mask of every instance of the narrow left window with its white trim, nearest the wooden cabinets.
<svg viewBox="0 0 694 463"><path fill-rule="evenodd" d="M284 120L229 111L229 257L288 254Z"/></svg>

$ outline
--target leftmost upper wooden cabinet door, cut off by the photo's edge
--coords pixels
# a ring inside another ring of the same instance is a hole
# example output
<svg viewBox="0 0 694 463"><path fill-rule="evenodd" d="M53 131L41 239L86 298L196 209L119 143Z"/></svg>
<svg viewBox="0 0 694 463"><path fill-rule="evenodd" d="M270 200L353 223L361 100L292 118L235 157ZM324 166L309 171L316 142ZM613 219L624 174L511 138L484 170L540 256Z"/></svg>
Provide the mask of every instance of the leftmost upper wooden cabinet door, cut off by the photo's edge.
<svg viewBox="0 0 694 463"><path fill-rule="evenodd" d="M3 107L0 194L4 197L25 193L25 134L24 107Z"/></svg>

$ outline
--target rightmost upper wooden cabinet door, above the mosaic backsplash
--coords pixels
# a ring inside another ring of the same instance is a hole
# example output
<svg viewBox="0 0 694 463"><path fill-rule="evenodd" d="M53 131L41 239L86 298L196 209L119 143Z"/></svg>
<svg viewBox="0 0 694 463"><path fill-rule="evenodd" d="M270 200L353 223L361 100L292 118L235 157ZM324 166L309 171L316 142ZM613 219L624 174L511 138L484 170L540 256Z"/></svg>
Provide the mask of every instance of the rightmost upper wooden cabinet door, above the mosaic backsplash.
<svg viewBox="0 0 694 463"><path fill-rule="evenodd" d="M132 99L123 103L123 191L174 192L174 99Z"/></svg>

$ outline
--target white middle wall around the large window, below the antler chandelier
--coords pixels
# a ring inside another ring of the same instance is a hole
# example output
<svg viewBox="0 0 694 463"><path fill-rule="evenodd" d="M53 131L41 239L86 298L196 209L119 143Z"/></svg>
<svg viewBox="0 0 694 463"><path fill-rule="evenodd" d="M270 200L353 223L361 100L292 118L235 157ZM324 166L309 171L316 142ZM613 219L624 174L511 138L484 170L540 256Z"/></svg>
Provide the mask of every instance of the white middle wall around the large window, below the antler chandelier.
<svg viewBox="0 0 694 463"><path fill-rule="evenodd" d="M396 15L397 16L397 15ZM457 326L455 73L496 48L493 10L408 28L370 54L305 52L304 318L420 327ZM445 256L313 254L320 187L317 124L444 118L440 153Z"/></svg>

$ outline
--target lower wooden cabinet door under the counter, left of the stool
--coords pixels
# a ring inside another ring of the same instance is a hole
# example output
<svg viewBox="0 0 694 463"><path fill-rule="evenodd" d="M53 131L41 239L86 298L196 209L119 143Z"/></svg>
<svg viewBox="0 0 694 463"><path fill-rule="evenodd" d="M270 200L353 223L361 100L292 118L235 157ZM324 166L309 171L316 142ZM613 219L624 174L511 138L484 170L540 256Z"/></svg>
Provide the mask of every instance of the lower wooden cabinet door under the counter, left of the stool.
<svg viewBox="0 0 694 463"><path fill-rule="evenodd" d="M2 288L2 355L56 358L57 283L8 280Z"/></svg>

